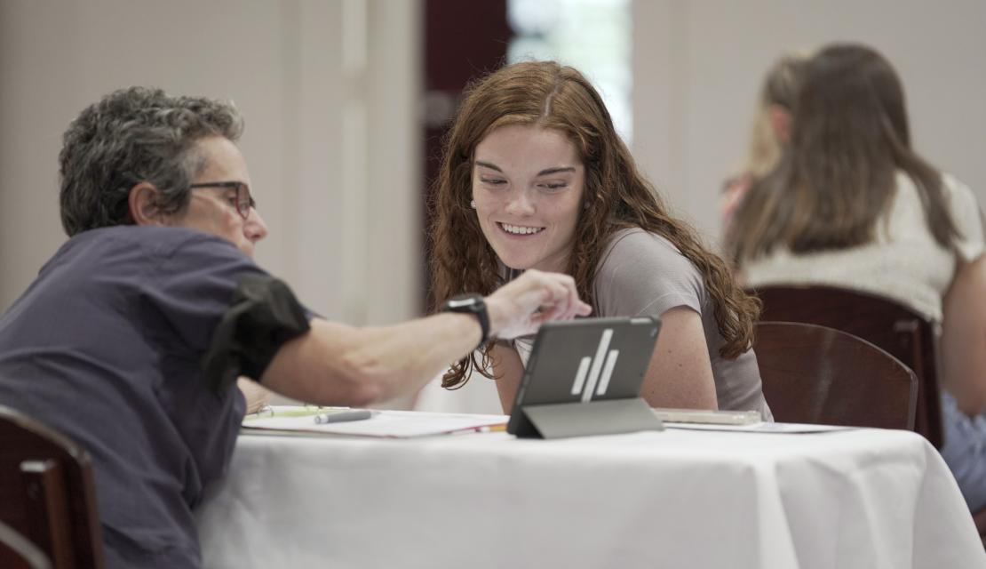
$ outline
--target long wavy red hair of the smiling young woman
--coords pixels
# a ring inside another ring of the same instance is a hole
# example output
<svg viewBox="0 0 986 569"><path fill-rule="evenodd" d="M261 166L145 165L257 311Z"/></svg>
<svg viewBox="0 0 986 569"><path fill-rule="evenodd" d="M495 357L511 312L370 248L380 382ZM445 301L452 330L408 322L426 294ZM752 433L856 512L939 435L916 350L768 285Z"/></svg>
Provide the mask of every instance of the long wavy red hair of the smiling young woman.
<svg viewBox="0 0 986 569"><path fill-rule="evenodd" d="M725 338L721 353L735 358L748 349L759 302L737 286L727 265L706 250L694 230L672 218L654 187L613 128L599 93L578 71L551 61L518 63L474 83L466 93L445 141L433 189L435 223L431 231L435 298L462 292L489 294L502 282L499 263L469 207L472 158L494 129L530 124L563 132L585 165L586 181L568 274L579 295L595 304L593 280L608 238L622 228L639 227L669 240L701 273ZM453 365L443 387L464 382L469 367L487 377L489 350L481 361L472 354Z"/></svg>

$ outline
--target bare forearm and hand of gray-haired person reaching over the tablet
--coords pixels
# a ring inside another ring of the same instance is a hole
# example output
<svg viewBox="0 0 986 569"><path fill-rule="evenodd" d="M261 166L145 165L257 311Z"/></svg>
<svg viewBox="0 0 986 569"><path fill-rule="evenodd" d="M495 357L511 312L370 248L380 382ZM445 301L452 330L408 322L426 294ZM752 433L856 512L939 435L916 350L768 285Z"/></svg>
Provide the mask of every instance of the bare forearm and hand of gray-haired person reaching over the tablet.
<svg viewBox="0 0 986 569"><path fill-rule="evenodd" d="M536 270L526 271L485 302L490 331L502 338L591 310L579 300L572 277ZM451 313L389 326L311 323L311 330L281 346L261 383L317 404L368 405L416 391L475 348L481 334L474 316Z"/></svg>

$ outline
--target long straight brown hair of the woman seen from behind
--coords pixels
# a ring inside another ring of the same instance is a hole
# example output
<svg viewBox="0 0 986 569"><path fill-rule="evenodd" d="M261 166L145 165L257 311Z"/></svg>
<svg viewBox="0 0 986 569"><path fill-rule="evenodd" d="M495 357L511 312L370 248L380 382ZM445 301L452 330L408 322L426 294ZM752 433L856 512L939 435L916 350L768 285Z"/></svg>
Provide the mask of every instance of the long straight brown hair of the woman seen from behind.
<svg viewBox="0 0 986 569"><path fill-rule="evenodd" d="M911 150L893 67L864 45L822 49L806 68L784 157L740 202L726 240L733 258L741 265L778 246L805 253L872 242L898 170L914 180L935 240L953 249L942 177Z"/></svg>

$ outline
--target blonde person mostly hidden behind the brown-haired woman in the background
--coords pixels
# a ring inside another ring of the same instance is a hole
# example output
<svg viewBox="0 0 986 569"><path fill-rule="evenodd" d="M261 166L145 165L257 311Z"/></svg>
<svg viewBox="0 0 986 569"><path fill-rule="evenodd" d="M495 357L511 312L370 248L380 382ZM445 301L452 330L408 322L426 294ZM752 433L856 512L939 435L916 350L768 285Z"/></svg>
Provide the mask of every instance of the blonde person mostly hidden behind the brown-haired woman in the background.
<svg viewBox="0 0 986 569"><path fill-rule="evenodd" d="M767 71L760 88L746 160L723 184L719 213L729 227L733 213L754 179L763 178L781 158L791 135L791 108L801 88L808 51L782 55Z"/></svg>

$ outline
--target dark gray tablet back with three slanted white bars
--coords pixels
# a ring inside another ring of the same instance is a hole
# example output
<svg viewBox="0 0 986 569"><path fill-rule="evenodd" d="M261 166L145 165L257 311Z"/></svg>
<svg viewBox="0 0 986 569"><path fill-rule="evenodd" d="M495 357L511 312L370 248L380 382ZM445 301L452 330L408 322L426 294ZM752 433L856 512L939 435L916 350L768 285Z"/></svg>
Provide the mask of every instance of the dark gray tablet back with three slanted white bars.
<svg viewBox="0 0 986 569"><path fill-rule="evenodd" d="M541 325L507 432L526 428L524 406L636 398L660 329L661 320L647 317Z"/></svg>

